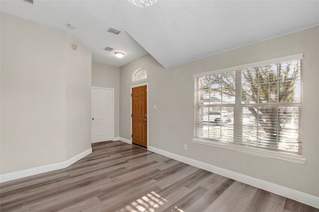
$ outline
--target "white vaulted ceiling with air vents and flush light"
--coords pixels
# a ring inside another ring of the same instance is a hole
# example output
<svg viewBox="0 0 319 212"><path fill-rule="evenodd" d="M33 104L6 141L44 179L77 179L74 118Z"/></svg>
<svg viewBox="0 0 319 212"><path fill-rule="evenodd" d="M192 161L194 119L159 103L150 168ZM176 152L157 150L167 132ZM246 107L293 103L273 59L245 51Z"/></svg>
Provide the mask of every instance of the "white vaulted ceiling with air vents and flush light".
<svg viewBox="0 0 319 212"><path fill-rule="evenodd" d="M158 0L147 8L128 0L34 2L1 0L0 9L66 31L92 50L93 61L117 67L151 54L170 68L319 25L318 0ZM110 26L123 32L109 33ZM114 50L104 51L106 46ZM124 58L116 58L116 51Z"/></svg>

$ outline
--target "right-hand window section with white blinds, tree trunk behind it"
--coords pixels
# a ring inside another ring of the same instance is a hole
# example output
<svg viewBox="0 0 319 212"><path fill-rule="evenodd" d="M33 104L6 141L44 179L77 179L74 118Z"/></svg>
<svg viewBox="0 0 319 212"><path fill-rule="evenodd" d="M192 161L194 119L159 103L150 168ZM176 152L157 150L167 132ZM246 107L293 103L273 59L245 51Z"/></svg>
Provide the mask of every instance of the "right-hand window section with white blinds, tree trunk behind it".
<svg viewBox="0 0 319 212"><path fill-rule="evenodd" d="M301 154L301 60L241 73L242 143Z"/></svg>

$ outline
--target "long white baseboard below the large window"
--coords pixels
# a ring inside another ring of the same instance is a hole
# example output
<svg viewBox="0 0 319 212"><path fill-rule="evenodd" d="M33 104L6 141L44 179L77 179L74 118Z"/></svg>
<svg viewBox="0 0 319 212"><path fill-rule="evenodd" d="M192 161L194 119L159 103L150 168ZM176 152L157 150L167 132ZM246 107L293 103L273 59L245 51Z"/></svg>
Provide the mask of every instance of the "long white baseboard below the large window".
<svg viewBox="0 0 319 212"><path fill-rule="evenodd" d="M287 197L292 200L296 200L298 202L307 204L309 206L315 207L319 209L319 197L306 194L304 192L300 192L294 189L290 189L284 186L280 186L274 183L270 183L264 180L260 180L254 177L250 177L247 175L243 175L237 172L233 172L227 169L223 169L208 163L204 163L198 160L194 160L188 157L184 157L178 154L174 154L153 146L148 146L148 150L153 151L155 153L164 155L166 157L172 158L174 160L178 160L180 162L195 166L197 168L204 169L209 172L213 172L215 174L222 175L224 177L228 177L233 180L237 180L239 182L272 192L274 194L281 195L283 197Z"/></svg>

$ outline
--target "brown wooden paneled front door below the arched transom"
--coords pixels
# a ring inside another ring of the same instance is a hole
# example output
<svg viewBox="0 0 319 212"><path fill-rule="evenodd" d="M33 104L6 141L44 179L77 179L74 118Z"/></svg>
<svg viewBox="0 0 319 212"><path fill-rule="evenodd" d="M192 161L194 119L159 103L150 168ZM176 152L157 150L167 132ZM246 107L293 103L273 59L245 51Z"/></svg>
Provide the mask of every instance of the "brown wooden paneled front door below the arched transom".
<svg viewBox="0 0 319 212"><path fill-rule="evenodd" d="M132 142L144 147L147 136L147 86L132 88Z"/></svg>

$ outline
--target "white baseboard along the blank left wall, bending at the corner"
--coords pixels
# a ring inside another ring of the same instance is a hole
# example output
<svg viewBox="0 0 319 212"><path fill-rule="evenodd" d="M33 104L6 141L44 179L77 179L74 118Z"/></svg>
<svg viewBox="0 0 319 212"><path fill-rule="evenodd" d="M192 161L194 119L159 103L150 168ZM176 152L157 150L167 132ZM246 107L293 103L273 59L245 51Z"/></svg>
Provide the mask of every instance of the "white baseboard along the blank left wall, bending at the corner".
<svg viewBox="0 0 319 212"><path fill-rule="evenodd" d="M41 174L41 173L48 172L48 171L54 171L54 170L66 168L69 165L75 163L76 161L78 161L79 159L85 157L86 155L88 155L90 153L92 153L92 148L89 148L89 149L75 155L74 157L72 157L66 161L63 161L63 162L53 163L53 164L49 164L49 165L45 165L45 166L34 167L34 168L30 168L30 169L24 169L21 171L15 171L15 172L7 173L7 174L1 174L0 175L0 183L10 181L10 180L19 179L22 177L32 176L35 174Z"/></svg>

